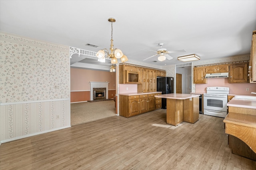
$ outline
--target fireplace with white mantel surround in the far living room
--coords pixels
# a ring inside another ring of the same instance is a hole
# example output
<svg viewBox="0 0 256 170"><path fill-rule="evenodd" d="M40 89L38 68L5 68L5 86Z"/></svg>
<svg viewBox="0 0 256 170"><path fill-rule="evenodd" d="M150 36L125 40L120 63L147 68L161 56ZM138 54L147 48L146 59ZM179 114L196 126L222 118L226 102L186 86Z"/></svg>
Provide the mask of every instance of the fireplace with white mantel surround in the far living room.
<svg viewBox="0 0 256 170"><path fill-rule="evenodd" d="M90 82L90 100L108 99L108 83ZM98 91L94 92L94 89Z"/></svg>

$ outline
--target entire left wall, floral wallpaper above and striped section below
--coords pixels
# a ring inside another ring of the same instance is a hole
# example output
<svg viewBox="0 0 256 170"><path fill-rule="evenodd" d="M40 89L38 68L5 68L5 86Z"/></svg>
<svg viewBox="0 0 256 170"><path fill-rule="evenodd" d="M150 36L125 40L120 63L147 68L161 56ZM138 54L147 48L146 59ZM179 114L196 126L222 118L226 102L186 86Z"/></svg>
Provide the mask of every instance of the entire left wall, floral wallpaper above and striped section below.
<svg viewBox="0 0 256 170"><path fill-rule="evenodd" d="M0 143L70 127L69 47L0 31Z"/></svg>

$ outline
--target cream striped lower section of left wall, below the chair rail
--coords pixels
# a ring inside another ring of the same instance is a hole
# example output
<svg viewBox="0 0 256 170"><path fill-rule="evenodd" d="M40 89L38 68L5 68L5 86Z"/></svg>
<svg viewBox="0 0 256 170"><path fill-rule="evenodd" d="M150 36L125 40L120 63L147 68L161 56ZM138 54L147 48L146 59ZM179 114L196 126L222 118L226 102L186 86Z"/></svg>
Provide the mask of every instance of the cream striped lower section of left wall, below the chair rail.
<svg viewBox="0 0 256 170"><path fill-rule="evenodd" d="M0 105L0 143L67 127L70 127L70 99Z"/></svg>

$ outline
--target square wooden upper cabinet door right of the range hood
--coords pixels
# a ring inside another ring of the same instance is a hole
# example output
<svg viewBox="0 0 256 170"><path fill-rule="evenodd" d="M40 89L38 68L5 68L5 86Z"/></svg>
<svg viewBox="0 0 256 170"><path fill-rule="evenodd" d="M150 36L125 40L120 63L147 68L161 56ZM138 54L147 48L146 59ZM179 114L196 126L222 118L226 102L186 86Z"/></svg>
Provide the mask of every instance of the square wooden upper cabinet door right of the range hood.
<svg viewBox="0 0 256 170"><path fill-rule="evenodd" d="M230 76L228 78L230 83L247 83L247 64L230 65Z"/></svg>

